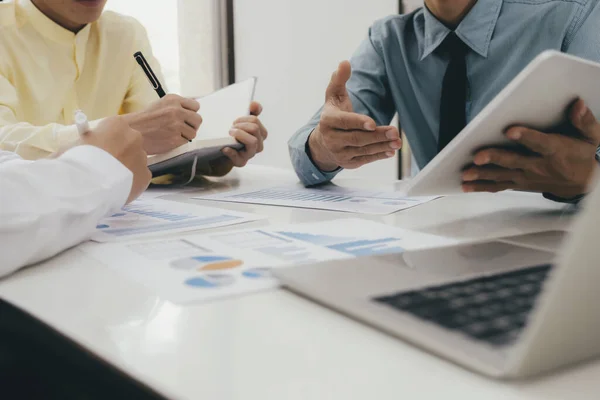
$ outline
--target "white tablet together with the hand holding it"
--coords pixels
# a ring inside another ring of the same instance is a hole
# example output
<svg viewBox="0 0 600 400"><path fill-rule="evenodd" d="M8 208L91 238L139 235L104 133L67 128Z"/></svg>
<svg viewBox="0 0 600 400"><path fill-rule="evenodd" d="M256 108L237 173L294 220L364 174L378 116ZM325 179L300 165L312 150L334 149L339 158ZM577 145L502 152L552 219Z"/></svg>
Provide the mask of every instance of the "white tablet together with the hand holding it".
<svg viewBox="0 0 600 400"><path fill-rule="evenodd" d="M409 183L407 195L506 189L583 194L598 168L595 116L600 64L544 52Z"/></svg>

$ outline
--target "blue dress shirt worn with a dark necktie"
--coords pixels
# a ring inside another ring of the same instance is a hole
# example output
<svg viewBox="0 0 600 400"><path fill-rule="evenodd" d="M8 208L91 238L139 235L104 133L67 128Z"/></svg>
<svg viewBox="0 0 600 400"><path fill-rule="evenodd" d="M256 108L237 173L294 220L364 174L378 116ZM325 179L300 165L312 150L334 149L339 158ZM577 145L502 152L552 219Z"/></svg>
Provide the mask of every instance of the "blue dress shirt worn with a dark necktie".
<svg viewBox="0 0 600 400"><path fill-rule="evenodd" d="M427 8L391 16L373 24L350 59L347 88L354 111L378 125L388 125L398 113L419 168L437 154L449 60L436 49L450 32ZM469 48L470 121L544 50L600 62L600 0L479 0L455 32ZM307 153L321 110L289 141L294 169L305 185L327 182L339 172L319 170Z"/></svg>

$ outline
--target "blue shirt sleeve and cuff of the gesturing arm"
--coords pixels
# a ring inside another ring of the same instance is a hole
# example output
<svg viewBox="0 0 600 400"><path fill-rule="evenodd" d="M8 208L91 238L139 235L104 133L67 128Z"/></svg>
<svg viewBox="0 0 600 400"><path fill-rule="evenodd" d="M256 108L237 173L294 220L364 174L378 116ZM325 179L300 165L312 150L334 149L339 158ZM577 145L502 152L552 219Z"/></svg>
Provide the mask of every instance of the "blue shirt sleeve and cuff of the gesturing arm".
<svg viewBox="0 0 600 400"><path fill-rule="evenodd" d="M386 34L383 33L382 26L383 21L379 21L371 27L369 36L350 59L352 77L347 83L347 89L354 112L370 116L377 125L388 125L394 117L395 105L390 94L383 58L382 46ZM307 151L308 138L319 124L322 111L323 107L288 142L294 170L306 186L328 182L341 171L341 169L333 172L321 171L313 163ZM365 135L369 134L370 132L365 132Z"/></svg>

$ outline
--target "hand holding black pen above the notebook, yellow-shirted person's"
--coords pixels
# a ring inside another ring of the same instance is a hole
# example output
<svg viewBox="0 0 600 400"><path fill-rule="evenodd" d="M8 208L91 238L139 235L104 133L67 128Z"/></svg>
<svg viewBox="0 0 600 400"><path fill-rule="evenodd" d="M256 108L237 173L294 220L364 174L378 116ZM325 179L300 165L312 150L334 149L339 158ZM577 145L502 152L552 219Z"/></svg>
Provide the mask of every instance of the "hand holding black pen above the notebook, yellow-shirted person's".
<svg viewBox="0 0 600 400"><path fill-rule="evenodd" d="M168 94L143 111L124 116L129 125L142 133L144 149L150 155L165 153L196 137L202 124L200 103Z"/></svg>

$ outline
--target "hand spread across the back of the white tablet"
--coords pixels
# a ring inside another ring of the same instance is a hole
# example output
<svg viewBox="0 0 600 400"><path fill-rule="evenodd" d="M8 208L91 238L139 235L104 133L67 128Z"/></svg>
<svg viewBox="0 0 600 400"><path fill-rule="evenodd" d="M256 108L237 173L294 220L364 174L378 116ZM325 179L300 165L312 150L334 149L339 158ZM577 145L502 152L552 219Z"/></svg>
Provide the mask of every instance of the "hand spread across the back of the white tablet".
<svg viewBox="0 0 600 400"><path fill-rule="evenodd" d="M573 138L514 127L506 136L531 150L523 155L503 149L485 149L474 158L474 166L463 173L464 192L499 192L515 189L544 192L571 199L587 192L598 162L600 123L582 100L569 112L580 134Z"/></svg>

